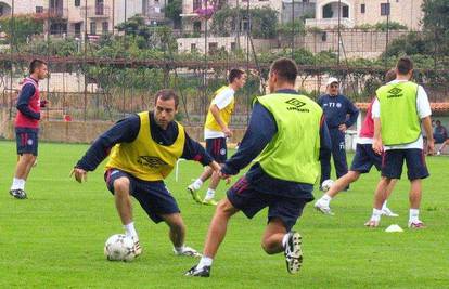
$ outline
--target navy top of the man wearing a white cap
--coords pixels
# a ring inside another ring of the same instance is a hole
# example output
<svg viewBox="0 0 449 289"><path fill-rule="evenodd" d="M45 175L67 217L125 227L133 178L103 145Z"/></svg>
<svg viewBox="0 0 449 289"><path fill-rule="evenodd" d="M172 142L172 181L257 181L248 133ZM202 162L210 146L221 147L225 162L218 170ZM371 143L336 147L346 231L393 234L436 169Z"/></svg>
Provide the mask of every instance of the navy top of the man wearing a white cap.
<svg viewBox="0 0 449 289"><path fill-rule="evenodd" d="M347 128L356 123L359 109L344 95L322 95L317 102L324 111L329 129L337 129L339 124Z"/></svg>

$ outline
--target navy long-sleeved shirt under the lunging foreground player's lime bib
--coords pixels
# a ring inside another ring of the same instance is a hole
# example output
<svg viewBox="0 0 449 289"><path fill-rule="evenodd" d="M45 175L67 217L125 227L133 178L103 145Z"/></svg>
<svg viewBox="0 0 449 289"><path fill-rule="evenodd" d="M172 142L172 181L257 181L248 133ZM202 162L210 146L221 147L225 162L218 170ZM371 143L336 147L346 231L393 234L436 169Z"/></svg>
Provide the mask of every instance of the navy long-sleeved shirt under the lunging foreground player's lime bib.
<svg viewBox="0 0 449 289"><path fill-rule="evenodd" d="M278 93L296 94L294 90L280 90ZM273 115L261 104L256 103L251 115L249 126L243 136L238 152L224 162L221 171L224 174L234 175L255 159L277 134L278 127ZM320 128L320 156L331 150L331 136L322 120ZM259 163L255 163L245 174L248 182L256 186L255 189L272 195L281 195L294 198L312 200L313 185L280 180L267 174Z"/></svg>

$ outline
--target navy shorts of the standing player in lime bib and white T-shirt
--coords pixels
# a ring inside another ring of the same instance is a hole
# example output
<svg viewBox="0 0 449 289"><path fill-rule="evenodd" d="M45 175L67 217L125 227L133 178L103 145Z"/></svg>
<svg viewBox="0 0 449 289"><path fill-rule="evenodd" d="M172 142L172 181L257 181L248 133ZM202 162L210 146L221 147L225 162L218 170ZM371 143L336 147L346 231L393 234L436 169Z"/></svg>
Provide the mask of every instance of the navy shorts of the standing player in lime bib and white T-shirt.
<svg viewBox="0 0 449 289"><path fill-rule="evenodd" d="M409 180L425 179L429 175L423 149L413 148L386 150L382 159L382 176L400 179L403 160L407 163Z"/></svg>

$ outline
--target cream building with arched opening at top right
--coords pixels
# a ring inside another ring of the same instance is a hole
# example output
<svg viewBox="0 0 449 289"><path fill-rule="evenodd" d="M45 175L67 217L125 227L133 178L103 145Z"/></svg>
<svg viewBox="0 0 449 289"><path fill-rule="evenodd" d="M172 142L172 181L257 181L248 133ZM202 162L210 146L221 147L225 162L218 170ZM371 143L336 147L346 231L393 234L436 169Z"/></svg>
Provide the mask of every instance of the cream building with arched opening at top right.
<svg viewBox="0 0 449 289"><path fill-rule="evenodd" d="M306 25L325 29L339 23L352 28L363 24L374 25L388 18L409 29L419 30L423 17L422 3L423 0L317 0L316 18L307 19Z"/></svg>

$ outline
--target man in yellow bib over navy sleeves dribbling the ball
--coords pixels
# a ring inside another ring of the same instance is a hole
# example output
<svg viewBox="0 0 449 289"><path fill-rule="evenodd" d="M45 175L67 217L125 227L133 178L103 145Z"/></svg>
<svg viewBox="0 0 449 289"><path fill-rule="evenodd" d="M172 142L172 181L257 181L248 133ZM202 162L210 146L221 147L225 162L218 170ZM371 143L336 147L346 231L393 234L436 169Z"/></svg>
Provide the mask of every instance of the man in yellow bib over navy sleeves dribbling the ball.
<svg viewBox="0 0 449 289"><path fill-rule="evenodd" d="M95 140L72 172L81 183L87 172L93 171L110 155L104 180L115 197L125 234L134 240L137 255L142 249L132 221L130 196L139 201L153 222L164 221L169 226L175 254L200 255L184 246L185 226L164 179L181 157L215 170L220 166L174 120L178 103L178 95L172 90L158 91L154 111L143 111L118 121Z"/></svg>

